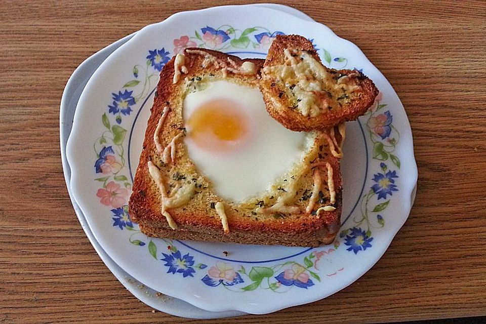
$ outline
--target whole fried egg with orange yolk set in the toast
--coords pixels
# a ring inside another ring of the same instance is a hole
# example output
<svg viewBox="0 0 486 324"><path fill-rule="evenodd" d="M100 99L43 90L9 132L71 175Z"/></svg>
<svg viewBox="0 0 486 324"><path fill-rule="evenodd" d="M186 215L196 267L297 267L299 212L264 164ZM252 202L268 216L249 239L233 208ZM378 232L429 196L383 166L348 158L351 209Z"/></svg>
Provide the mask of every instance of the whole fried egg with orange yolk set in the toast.
<svg viewBox="0 0 486 324"><path fill-rule="evenodd" d="M273 119L258 88L205 81L183 102L189 158L222 198L242 203L261 194L299 164L309 134Z"/></svg>

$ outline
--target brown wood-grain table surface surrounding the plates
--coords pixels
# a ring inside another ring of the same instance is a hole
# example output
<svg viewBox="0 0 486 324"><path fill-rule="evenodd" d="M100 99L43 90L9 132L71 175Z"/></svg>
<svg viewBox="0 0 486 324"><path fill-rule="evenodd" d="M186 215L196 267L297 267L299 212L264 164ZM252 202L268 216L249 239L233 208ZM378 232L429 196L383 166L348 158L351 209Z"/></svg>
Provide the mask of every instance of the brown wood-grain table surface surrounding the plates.
<svg viewBox="0 0 486 324"><path fill-rule="evenodd" d="M62 175L59 102L69 75L91 54L212 4L0 3L0 322L200 322L153 313L96 255ZM343 291L268 315L207 322L486 315L486 3L288 4L357 44L390 80L412 124L417 199L384 257Z"/></svg>

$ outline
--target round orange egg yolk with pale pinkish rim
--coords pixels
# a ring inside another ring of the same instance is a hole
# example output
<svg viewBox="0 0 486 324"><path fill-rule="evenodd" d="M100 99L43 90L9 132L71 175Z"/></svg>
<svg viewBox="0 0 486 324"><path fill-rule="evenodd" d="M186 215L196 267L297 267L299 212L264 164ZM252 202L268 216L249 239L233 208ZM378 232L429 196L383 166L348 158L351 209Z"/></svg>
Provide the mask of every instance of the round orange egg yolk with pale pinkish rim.
<svg viewBox="0 0 486 324"><path fill-rule="evenodd" d="M238 103L215 99L198 106L188 119L187 136L210 150L233 149L248 137L248 116Z"/></svg>

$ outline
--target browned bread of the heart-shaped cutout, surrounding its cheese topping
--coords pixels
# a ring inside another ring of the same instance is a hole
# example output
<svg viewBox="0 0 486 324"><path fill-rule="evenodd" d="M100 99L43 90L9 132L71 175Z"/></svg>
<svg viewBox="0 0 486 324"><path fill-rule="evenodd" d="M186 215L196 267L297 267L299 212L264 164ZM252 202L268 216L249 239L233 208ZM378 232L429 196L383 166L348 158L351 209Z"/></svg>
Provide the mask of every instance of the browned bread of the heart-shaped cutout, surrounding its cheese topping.
<svg viewBox="0 0 486 324"><path fill-rule="evenodd" d="M298 35L278 35L273 41L264 67L274 67L285 64L284 51L286 49L303 51L312 56L320 64L320 58L313 45L306 38ZM286 85L279 83L271 73L262 74L260 89L268 113L280 124L293 131L322 130L333 127L343 121L354 120L364 114L373 105L378 89L371 79L357 70L335 70L324 67L328 73L338 77L348 76L349 82L358 86L359 91L349 94L351 100L338 102L338 107L325 109L317 116L303 115L295 109L295 100L290 98ZM265 71L265 69L264 69ZM342 105L341 105L342 104Z"/></svg>

